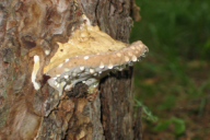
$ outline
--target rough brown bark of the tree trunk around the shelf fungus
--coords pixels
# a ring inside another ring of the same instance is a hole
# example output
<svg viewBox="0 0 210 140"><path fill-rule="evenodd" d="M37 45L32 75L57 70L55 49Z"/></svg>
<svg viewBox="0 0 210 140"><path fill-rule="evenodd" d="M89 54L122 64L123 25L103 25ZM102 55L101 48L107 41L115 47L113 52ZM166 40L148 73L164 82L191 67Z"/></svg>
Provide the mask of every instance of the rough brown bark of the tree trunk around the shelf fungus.
<svg viewBox="0 0 210 140"><path fill-rule="evenodd" d="M0 140L140 139L133 130L132 68L104 78L93 102L78 95L83 85L74 86L77 96L58 97L42 72L82 14L128 43L133 5L133 0L0 1ZM32 83L35 55L39 90Z"/></svg>

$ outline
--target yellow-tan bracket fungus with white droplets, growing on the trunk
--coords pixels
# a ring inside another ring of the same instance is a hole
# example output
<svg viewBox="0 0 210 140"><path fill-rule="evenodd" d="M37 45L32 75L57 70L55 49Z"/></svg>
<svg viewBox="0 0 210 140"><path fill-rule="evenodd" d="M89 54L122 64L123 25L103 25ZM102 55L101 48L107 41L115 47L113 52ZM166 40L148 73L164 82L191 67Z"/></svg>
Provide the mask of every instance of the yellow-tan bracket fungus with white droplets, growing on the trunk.
<svg viewBox="0 0 210 140"><path fill-rule="evenodd" d="M59 91L60 96L63 90L71 90L79 82L94 91L109 71L120 71L149 51L140 40L131 45L115 40L98 26L92 26L84 15L83 20L68 43L58 43L59 48L44 68L44 73L50 75L49 85Z"/></svg>

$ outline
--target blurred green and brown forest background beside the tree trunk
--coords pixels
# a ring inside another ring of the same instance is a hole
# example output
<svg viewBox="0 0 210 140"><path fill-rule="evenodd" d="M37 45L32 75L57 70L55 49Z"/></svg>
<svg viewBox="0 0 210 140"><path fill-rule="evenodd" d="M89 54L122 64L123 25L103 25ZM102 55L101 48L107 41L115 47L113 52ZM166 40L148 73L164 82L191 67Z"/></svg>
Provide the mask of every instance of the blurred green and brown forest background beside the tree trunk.
<svg viewBox="0 0 210 140"><path fill-rule="evenodd" d="M210 0L136 0L130 42L150 49L135 66L143 140L210 140Z"/></svg>

